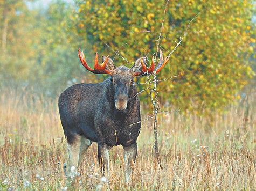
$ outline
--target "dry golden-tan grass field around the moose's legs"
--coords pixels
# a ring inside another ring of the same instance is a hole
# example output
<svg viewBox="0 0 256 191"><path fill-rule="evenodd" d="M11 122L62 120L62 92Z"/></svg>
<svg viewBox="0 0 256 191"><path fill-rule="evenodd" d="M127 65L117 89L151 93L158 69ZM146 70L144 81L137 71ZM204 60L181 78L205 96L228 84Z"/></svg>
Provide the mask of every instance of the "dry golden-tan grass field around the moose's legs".
<svg viewBox="0 0 256 191"><path fill-rule="evenodd" d="M132 181L124 181L121 146L110 152L109 182L102 178L93 143L78 169L65 177L68 158L57 98L2 90L0 190L255 190L255 93L215 120L179 112L161 115L163 170L152 160L151 122L142 125ZM142 117L145 119L147 115Z"/></svg>

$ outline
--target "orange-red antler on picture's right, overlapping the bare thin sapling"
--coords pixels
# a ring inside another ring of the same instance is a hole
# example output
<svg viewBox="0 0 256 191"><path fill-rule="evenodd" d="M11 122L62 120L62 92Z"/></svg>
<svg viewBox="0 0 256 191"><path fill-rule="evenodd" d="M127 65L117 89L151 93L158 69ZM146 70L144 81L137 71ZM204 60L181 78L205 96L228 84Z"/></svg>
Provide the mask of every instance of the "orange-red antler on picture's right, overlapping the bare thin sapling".
<svg viewBox="0 0 256 191"><path fill-rule="evenodd" d="M163 53L160 50L160 59L157 64L157 67L156 67L156 72L159 72L160 70L163 69L164 65L169 61L169 58L170 58L170 56L168 58L165 56L164 61L163 61ZM163 61L163 63L162 63L162 61ZM141 58L141 71L134 72L134 76L141 76L147 72L148 72L148 74L152 74L154 72L154 70L155 70L154 56L152 56L152 62L151 62L150 68L146 67L146 65L143 63L142 58Z"/></svg>

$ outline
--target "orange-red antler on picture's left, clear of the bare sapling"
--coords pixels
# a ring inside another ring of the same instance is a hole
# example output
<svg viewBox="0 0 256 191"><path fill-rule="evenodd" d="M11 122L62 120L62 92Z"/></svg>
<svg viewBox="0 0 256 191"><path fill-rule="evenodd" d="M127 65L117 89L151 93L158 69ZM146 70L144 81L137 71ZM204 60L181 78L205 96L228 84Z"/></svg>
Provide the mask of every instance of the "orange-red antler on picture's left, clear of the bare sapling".
<svg viewBox="0 0 256 191"><path fill-rule="evenodd" d="M98 63L98 53L96 53L95 55L95 60L94 60L94 69L92 69L91 67L88 66L88 64L86 63L85 60L85 55L83 52L80 53L80 48L78 48L78 56L80 58L80 61L82 63L82 65L90 72L93 72L94 74L111 74L112 70L108 70L106 69L106 64L108 62L108 56L106 58L106 60L99 65Z"/></svg>

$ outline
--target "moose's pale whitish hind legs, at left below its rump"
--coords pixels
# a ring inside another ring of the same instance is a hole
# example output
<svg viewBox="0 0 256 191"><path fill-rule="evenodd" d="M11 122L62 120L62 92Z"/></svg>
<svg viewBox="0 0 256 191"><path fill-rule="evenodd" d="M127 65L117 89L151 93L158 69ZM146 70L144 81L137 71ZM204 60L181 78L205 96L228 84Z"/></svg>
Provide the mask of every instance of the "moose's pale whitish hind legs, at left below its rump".
<svg viewBox="0 0 256 191"><path fill-rule="evenodd" d="M91 144L91 141L79 135L75 136L72 143L67 143L68 153L70 154L70 166L74 166L77 170L82 159L84 158L85 152ZM63 167L66 168L66 166L67 161Z"/></svg>

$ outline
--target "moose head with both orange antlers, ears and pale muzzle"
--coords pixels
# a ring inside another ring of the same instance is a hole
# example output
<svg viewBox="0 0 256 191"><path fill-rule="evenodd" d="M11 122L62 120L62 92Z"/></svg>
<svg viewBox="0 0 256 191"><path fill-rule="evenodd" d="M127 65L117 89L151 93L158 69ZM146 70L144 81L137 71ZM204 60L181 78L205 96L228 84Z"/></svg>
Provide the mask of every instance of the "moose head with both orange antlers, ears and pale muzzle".
<svg viewBox="0 0 256 191"><path fill-rule="evenodd" d="M102 56L102 64L98 63L98 53L95 55L94 69L90 68L85 60L85 55L78 49L78 56L82 65L90 72L94 74L109 74L110 81L114 88L114 102L115 108L119 111L124 111L129 101L128 92L130 86L134 85L133 78L135 76L151 75L153 72L159 72L164 65L168 62L170 57L165 57L163 61L163 54L160 50L160 60L155 70L154 56L152 56L152 62L150 67L146 67L147 57L141 57L135 61L132 68L125 66L115 67L113 60L109 56ZM162 62L163 61L163 62Z"/></svg>

